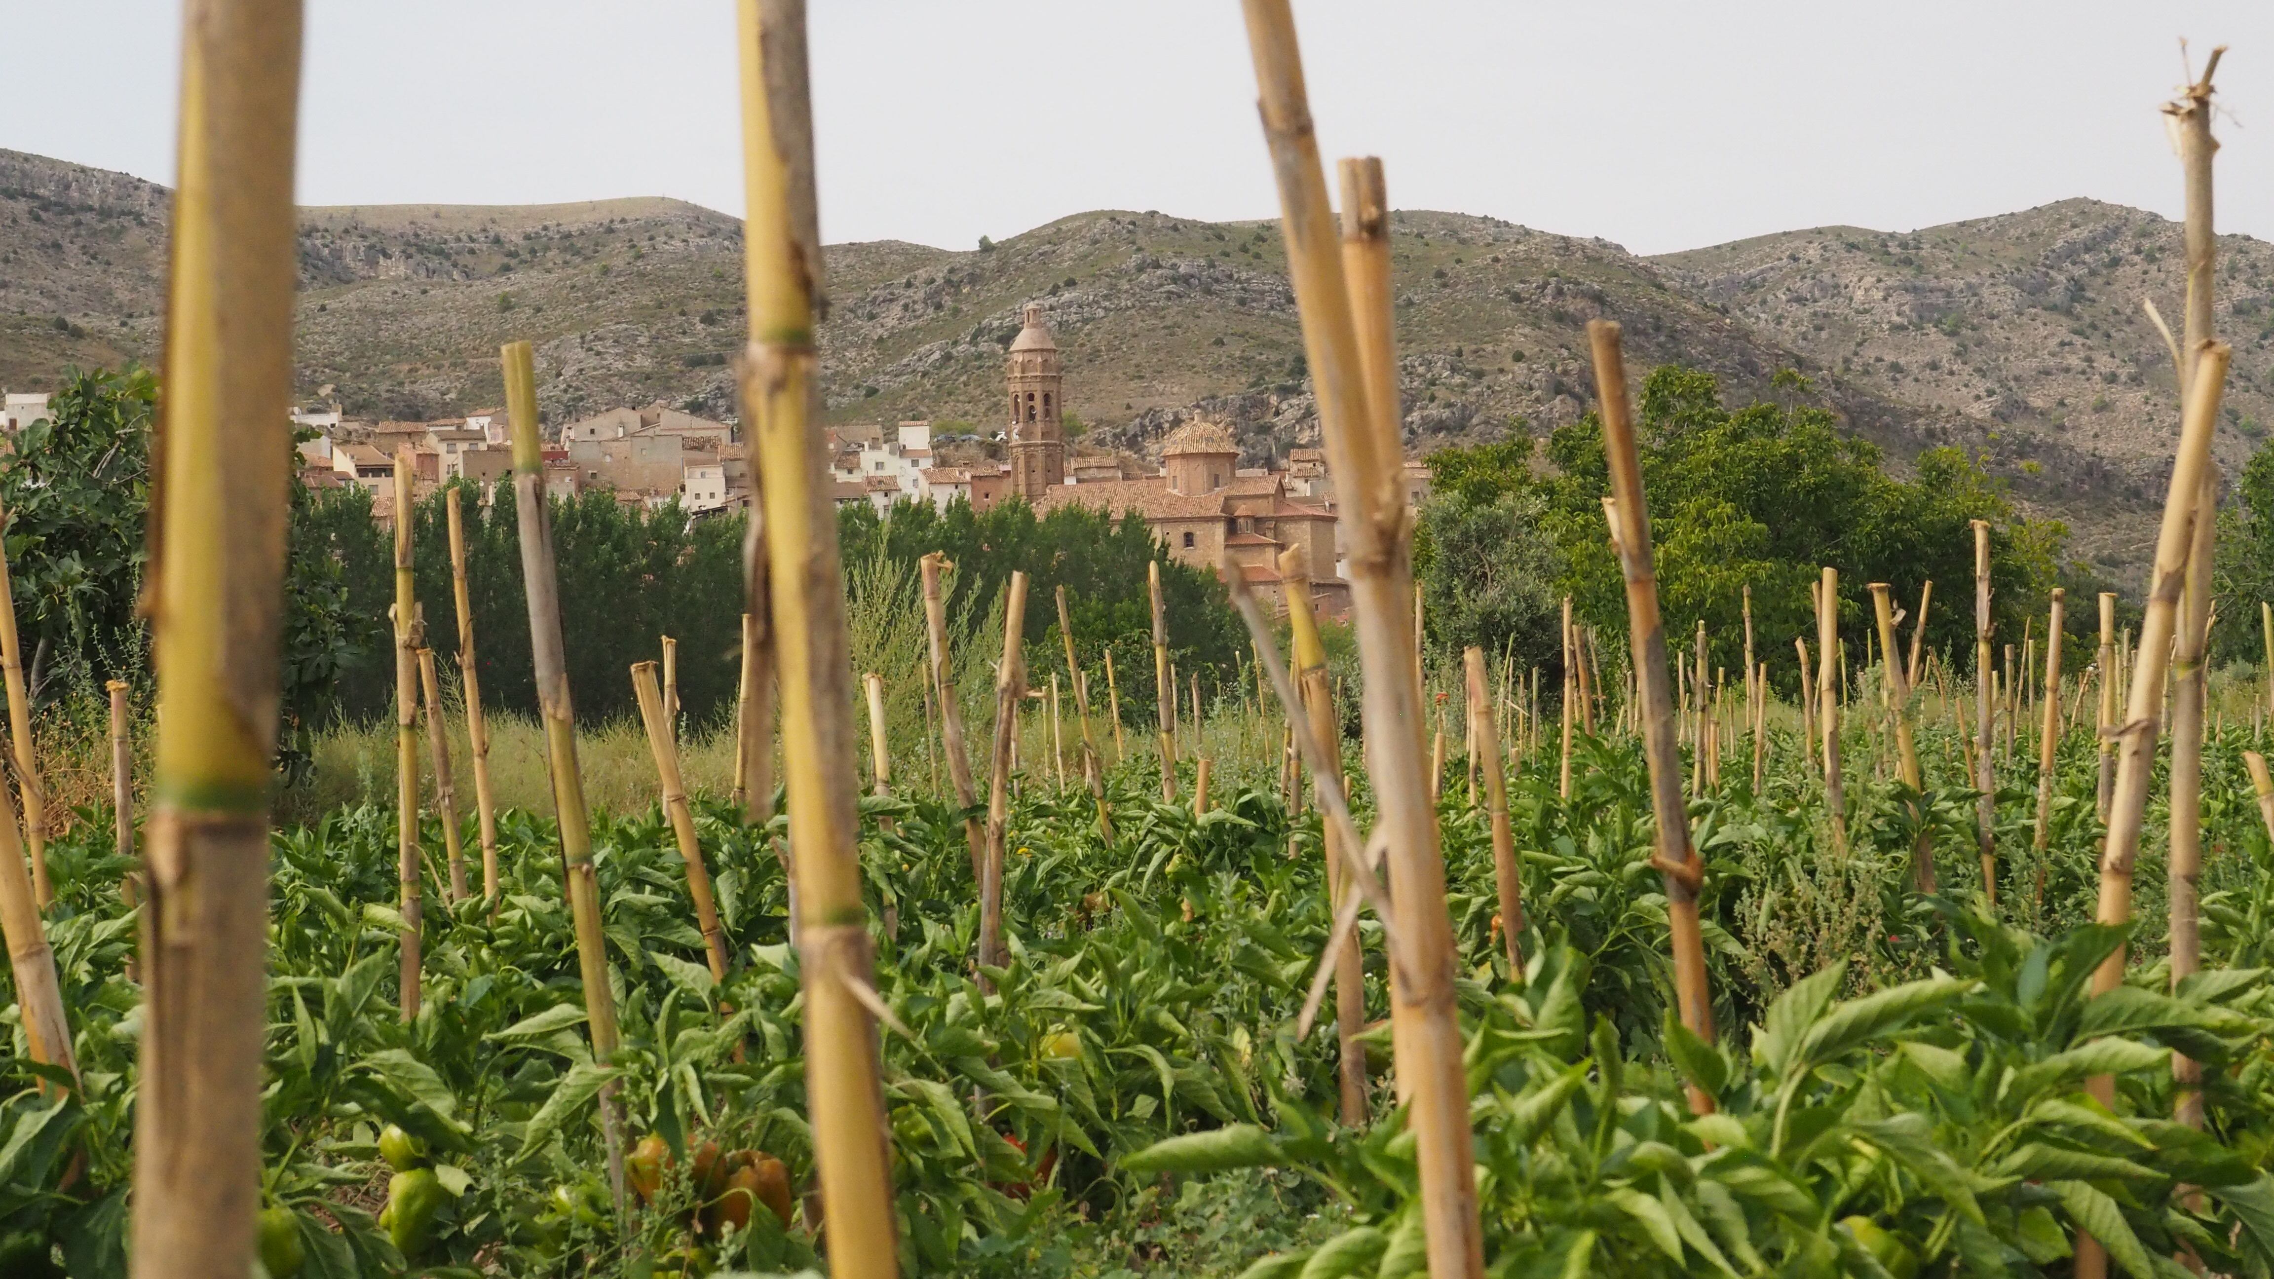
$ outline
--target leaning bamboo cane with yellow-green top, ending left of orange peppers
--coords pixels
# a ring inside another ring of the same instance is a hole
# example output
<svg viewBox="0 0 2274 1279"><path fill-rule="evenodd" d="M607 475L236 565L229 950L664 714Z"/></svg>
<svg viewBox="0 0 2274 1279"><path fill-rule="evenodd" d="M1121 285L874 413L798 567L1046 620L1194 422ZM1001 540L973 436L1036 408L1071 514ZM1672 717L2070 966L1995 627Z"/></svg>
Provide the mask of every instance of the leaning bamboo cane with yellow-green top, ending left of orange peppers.
<svg viewBox="0 0 2274 1279"><path fill-rule="evenodd" d="M505 412L514 435L514 519L521 542L521 583L530 608L530 665L537 674L537 715L546 733L553 810L562 840L562 876L575 924L578 976L591 1054L607 1061L619 1045L616 997L607 985L607 938L600 931L600 883L591 869L591 817L584 774L578 769L575 705L568 696L568 651L562 642L559 574L553 558L553 508L546 501L543 453L537 444L537 360L528 341L498 350L505 371ZM623 1199L623 1131L614 1090L600 1101L609 1186Z"/></svg>

